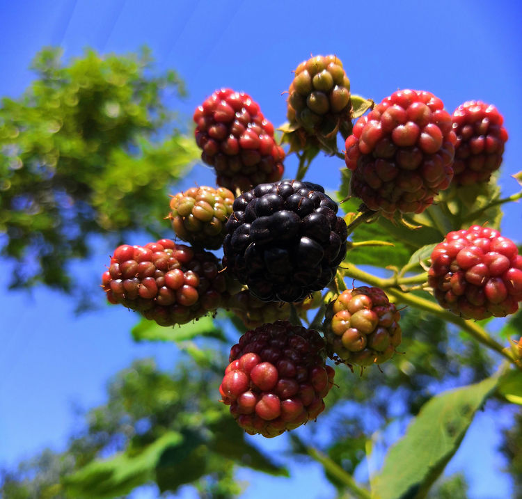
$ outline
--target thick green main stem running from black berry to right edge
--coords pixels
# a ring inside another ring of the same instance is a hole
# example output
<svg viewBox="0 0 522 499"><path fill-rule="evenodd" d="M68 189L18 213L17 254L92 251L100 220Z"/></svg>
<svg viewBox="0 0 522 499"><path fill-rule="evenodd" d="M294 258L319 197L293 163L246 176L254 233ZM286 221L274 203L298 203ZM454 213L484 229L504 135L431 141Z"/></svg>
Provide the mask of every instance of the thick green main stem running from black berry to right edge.
<svg viewBox="0 0 522 499"><path fill-rule="evenodd" d="M441 306L438 306L438 304L434 303L433 301L421 298L415 294L407 292L405 293L401 290L398 290L397 287L395 287L396 283L394 278L378 278L372 274L368 274L367 272L362 271L361 269L358 269L352 264L344 269L344 273L345 276L362 280L363 282L372 286L381 287L386 291L387 294L394 296L395 299L397 299L397 301L400 303L404 303L405 305L409 305L420 310L425 310L426 312L430 312L437 317L441 317L441 319L445 320L446 322L452 322L453 324L456 324L466 331L466 333L473 336L475 340L484 344L484 346L488 347L489 349L498 352L498 354L507 358L509 362L519 367L518 363L516 362L517 359L514 357L514 355L510 351L507 351L503 345L493 340L493 338L489 336L484 328L479 326L479 324L476 322L472 322L463 319L458 315L454 315L454 313L449 312L448 310L444 310Z"/></svg>

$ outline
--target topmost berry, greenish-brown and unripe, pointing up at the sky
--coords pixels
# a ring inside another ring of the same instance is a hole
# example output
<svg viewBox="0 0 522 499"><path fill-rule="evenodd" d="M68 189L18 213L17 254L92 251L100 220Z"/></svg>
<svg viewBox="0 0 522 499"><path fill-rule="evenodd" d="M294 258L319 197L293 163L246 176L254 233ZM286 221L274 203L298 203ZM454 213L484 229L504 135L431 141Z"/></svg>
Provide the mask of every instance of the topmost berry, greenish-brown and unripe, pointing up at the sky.
<svg viewBox="0 0 522 499"><path fill-rule="evenodd" d="M315 56L295 70L287 100L287 118L302 148L335 138L340 127L351 125L350 81L336 56ZM346 136L346 135L345 135Z"/></svg>

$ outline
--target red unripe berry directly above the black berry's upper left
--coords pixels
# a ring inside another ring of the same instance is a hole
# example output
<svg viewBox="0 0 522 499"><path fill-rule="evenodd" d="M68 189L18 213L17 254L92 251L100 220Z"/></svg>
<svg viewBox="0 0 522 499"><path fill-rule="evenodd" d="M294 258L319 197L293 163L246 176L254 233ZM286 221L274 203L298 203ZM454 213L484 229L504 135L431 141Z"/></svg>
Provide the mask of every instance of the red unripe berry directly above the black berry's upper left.
<svg viewBox="0 0 522 499"><path fill-rule="evenodd" d="M221 187L245 191L283 176L285 152L274 140L274 125L246 93L216 90L193 120L201 159L214 167Z"/></svg>

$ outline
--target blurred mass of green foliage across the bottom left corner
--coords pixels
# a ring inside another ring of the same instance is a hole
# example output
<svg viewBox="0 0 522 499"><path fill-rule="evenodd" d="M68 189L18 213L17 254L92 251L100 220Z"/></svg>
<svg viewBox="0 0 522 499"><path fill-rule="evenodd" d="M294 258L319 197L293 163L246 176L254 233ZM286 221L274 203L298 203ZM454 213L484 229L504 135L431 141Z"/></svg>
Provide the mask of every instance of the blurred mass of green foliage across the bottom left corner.
<svg viewBox="0 0 522 499"><path fill-rule="evenodd" d="M65 452L45 450L17 470L1 471L0 496L112 498L156 483L171 492L192 484L201 498L226 499L241 491L233 479L237 465L287 475L247 443L228 407L217 402L220 382L218 372L192 361L178 363L172 374L137 361L109 383L108 401L86 413Z"/></svg>

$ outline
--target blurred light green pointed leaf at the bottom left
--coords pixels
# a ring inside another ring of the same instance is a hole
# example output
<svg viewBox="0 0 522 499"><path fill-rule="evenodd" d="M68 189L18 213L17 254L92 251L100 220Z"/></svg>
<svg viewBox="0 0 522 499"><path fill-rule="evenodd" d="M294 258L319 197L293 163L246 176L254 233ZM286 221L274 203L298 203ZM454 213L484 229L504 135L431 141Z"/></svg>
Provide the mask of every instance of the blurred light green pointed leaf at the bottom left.
<svg viewBox="0 0 522 499"><path fill-rule="evenodd" d="M69 496L79 499L123 496L153 480L161 455L182 442L181 434L168 431L133 457L122 453L105 461L93 461L77 473L65 477L65 490Z"/></svg>

